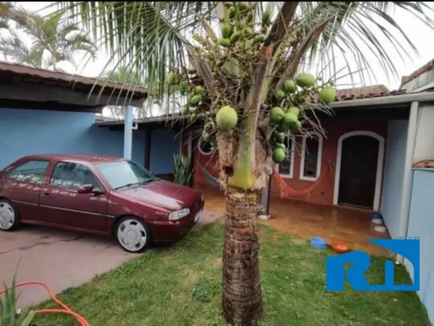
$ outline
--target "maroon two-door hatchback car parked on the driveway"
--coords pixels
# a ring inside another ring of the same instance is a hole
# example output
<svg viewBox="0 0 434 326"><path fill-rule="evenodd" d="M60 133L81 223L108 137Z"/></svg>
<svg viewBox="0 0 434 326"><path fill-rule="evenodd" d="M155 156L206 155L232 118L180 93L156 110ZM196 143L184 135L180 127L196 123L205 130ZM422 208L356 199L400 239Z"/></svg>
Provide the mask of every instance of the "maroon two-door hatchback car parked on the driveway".
<svg viewBox="0 0 434 326"><path fill-rule="evenodd" d="M30 155L0 171L0 230L21 222L114 236L128 252L174 241L198 221L197 191L163 181L131 160Z"/></svg>

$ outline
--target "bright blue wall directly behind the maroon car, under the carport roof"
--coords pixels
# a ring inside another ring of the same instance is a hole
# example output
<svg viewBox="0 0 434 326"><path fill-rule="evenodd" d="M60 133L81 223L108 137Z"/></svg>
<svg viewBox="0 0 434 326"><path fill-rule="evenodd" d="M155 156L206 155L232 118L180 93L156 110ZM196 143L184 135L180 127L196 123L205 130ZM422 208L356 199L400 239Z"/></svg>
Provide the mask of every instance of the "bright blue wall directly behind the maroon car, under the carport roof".
<svg viewBox="0 0 434 326"><path fill-rule="evenodd" d="M0 169L29 154L122 156L123 131L109 131L94 122L94 113L0 108ZM141 165L144 144L144 130L134 130L132 159Z"/></svg>

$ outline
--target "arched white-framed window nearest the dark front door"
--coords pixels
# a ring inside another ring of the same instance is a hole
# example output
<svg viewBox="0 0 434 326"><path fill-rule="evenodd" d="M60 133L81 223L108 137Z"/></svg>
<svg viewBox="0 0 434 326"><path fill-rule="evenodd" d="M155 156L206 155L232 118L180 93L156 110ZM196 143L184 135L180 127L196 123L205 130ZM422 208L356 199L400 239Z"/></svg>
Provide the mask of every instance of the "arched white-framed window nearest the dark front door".
<svg viewBox="0 0 434 326"><path fill-rule="evenodd" d="M314 131L303 136L300 180L315 181L321 174L323 137Z"/></svg>

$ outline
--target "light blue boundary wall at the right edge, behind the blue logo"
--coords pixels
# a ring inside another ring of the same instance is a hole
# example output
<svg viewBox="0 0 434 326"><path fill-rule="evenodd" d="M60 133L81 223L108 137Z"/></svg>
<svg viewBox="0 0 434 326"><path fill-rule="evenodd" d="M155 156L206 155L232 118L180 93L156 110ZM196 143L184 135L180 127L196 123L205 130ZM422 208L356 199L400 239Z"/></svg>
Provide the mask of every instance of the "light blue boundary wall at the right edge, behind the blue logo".
<svg viewBox="0 0 434 326"><path fill-rule="evenodd" d="M417 294L428 310L434 324L434 170L414 169L411 188L408 237L420 239L420 290ZM413 277L413 268L405 260L408 273Z"/></svg>

